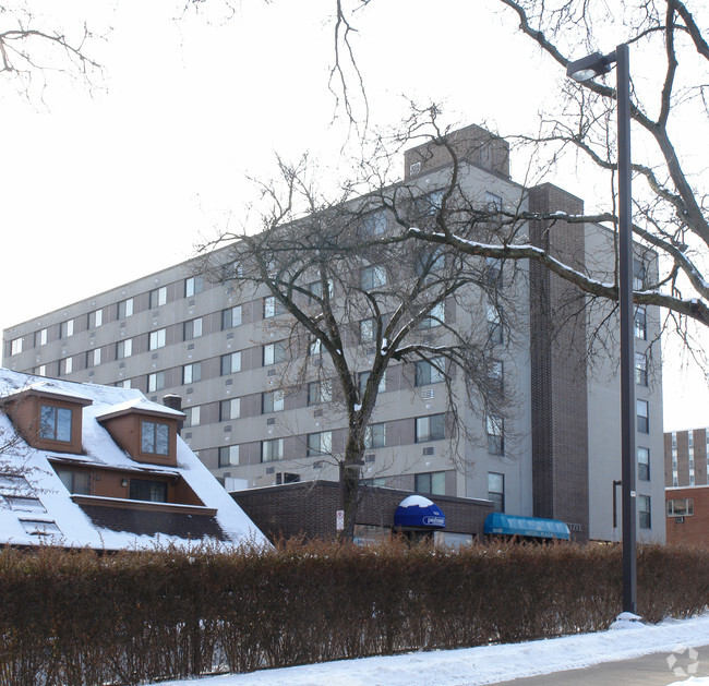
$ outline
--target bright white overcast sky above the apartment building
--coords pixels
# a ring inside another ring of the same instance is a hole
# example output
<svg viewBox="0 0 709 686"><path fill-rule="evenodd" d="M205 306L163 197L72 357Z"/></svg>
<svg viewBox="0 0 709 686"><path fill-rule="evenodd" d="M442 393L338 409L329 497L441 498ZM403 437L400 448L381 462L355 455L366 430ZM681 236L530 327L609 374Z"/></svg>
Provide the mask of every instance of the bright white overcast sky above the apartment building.
<svg viewBox="0 0 709 686"><path fill-rule="evenodd" d="M35 0L33 10L55 4ZM37 89L27 101L0 81L1 327L188 258L228 218L244 219L256 197L245 177L273 174L275 152L336 161L344 131L332 124L327 92L333 5L243 0L229 16L223 0L207 0L200 14L183 13L179 0L62 2L64 28L85 19L106 32L87 46L106 91L92 95L49 73L43 104ZM560 70L494 0L431 7L386 0L358 17L372 123L399 121L406 96L443 103L449 123L503 134L520 122L533 128ZM609 35L609 46L621 35ZM513 177L525 172L513 157ZM549 180L587 207L596 193L573 167ZM665 428L709 425L696 370L686 380L665 372L673 386Z"/></svg>

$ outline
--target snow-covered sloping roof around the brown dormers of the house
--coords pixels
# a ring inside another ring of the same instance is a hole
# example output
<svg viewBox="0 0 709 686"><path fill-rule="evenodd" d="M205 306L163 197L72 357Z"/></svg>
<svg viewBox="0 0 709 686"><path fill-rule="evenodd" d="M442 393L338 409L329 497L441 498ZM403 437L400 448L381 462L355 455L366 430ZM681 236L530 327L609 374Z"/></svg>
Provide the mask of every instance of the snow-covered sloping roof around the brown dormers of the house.
<svg viewBox="0 0 709 686"><path fill-rule="evenodd" d="M266 539L178 436L177 467L136 462L99 422L130 411L180 418L182 413L148 401L131 388L46 380L0 369L0 398L27 392L51 394L84 406L83 453L74 455L31 447L0 413L0 544L97 550L187 545L203 539L226 544L265 543ZM87 405L89 402L91 405ZM77 496L64 488L52 464L182 478L201 506ZM105 501L112 502L105 502ZM101 502L104 501L104 502Z"/></svg>

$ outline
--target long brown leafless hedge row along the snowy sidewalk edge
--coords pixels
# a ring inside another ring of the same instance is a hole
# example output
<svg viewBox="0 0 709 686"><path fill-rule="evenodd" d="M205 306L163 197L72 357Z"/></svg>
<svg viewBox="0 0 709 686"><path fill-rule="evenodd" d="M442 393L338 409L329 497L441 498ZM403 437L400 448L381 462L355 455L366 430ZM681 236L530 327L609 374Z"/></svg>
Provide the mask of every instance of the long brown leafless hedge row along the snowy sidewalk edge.
<svg viewBox="0 0 709 686"><path fill-rule="evenodd" d="M0 553L0 686L137 684L606 628L621 550L290 542ZM644 618L709 604L709 553L642 547Z"/></svg>

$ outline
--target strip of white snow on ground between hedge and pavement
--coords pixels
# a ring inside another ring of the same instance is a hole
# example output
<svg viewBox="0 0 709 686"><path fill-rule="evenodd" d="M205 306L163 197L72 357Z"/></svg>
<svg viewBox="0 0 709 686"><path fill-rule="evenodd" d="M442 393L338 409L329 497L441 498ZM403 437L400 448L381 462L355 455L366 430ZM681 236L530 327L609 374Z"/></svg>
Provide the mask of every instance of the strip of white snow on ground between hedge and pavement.
<svg viewBox="0 0 709 686"><path fill-rule="evenodd" d="M387 658L343 660L251 674L214 676L200 686L478 686L601 662L628 660L654 652L680 655L687 647L709 646L709 613L692 619L665 619L646 626L620 622L598 634L460 650L413 652ZM688 652L688 651L687 651ZM707 655L700 658L706 659ZM677 665L681 662L676 662ZM687 665L685 664L685 667ZM668 666L670 670L670 666ZM684 674L690 674L688 670ZM676 684L709 686L709 677L681 678ZM194 681L164 686L195 686Z"/></svg>

